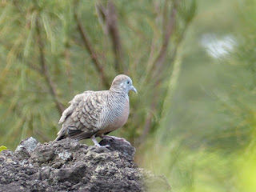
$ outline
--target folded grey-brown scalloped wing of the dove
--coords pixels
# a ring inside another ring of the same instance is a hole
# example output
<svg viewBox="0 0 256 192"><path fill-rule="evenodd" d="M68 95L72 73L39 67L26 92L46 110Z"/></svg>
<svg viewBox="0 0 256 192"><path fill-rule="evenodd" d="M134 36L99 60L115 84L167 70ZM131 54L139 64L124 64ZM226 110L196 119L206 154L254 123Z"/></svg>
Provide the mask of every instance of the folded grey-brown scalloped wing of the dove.
<svg viewBox="0 0 256 192"><path fill-rule="evenodd" d="M100 116L104 106L106 106L104 91L85 91L74 97L70 106L63 111L59 123L67 126L67 133L71 138L89 138L100 130Z"/></svg>

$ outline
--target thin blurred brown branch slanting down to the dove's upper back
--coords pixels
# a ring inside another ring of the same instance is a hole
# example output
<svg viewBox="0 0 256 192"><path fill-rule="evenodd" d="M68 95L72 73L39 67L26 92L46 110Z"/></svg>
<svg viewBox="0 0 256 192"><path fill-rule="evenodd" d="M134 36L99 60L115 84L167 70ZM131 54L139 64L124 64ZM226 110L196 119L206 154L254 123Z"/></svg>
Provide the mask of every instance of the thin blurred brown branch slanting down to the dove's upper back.
<svg viewBox="0 0 256 192"><path fill-rule="evenodd" d="M89 42L89 38L87 37L86 29L82 26L82 22L79 20L78 14L76 13L75 9L74 9L74 18L78 24L78 32L81 35L83 44L86 47L86 49L88 50L90 57L92 58L92 61L94 62L94 66L98 70L98 73L100 74L102 84L106 88L109 88L110 83L109 83L108 79L106 78L106 74L104 73L103 67L98 60L98 56L97 56L96 52L94 51L94 48L91 46L91 44Z"/></svg>

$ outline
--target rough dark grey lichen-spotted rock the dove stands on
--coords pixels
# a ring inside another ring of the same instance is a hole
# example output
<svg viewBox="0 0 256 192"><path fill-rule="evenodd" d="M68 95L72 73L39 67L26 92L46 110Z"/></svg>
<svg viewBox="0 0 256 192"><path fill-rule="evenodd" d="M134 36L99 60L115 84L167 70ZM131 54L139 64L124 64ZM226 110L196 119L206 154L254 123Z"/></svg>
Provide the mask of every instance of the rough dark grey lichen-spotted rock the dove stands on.
<svg viewBox="0 0 256 192"><path fill-rule="evenodd" d="M70 138L44 144L26 138L14 152L0 154L0 191L170 190L165 178L138 169L133 146L106 138L100 144L110 147L86 146Z"/></svg>

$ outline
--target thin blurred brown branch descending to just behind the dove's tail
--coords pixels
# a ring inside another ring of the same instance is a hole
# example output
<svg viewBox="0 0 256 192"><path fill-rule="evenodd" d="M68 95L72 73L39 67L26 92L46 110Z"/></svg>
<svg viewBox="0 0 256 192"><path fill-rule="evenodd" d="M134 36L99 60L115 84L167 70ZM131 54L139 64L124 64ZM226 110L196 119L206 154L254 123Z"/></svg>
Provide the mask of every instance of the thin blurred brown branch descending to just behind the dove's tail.
<svg viewBox="0 0 256 192"><path fill-rule="evenodd" d="M62 103L59 101L57 96L57 91L54 85L54 82L50 78L50 73L48 70L48 66L46 65L46 58L44 53L44 44L42 42L42 36L40 32L40 23L39 18L36 19L36 30L38 34L38 47L39 47L39 53L40 53L40 63L42 66L42 74L44 75L46 79L46 83L49 86L50 94L54 98L55 105L57 106L59 114L62 114L62 111L64 110L64 107L62 106Z"/></svg>

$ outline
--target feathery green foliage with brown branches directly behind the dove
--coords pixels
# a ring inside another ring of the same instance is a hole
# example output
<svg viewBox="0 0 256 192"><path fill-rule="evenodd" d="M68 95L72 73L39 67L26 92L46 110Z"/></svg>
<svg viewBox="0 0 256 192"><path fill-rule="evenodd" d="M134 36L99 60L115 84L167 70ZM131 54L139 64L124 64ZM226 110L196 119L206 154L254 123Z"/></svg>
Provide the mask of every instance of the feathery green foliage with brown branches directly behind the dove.
<svg viewBox="0 0 256 192"><path fill-rule="evenodd" d="M130 121L117 134L144 142L158 127L178 31L194 17L194 0L177 2L1 2L0 139L10 148L31 135L54 139L75 94L108 89L117 74L129 74L139 97L131 94ZM108 17L118 20L110 25Z"/></svg>

